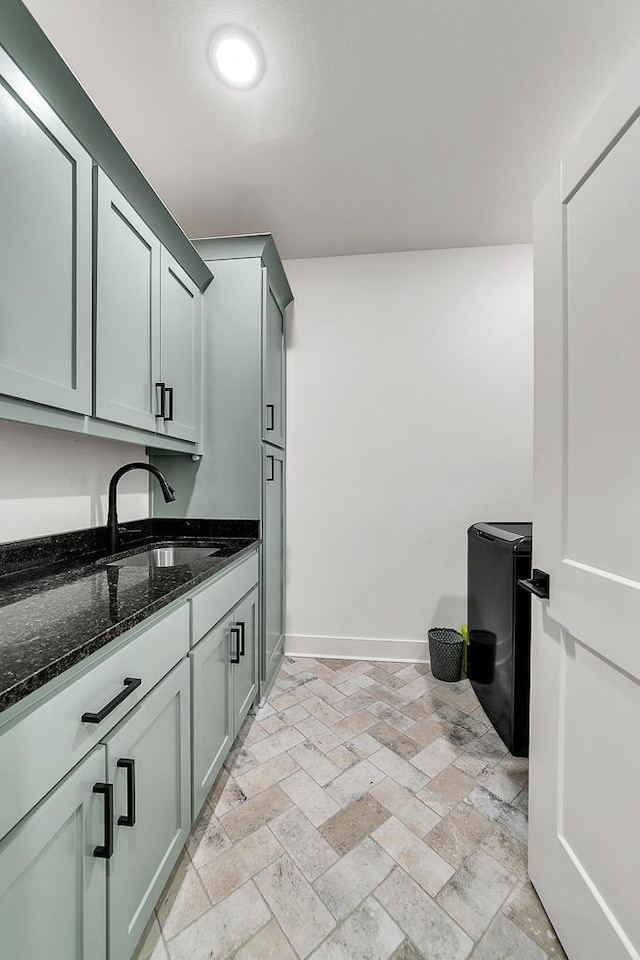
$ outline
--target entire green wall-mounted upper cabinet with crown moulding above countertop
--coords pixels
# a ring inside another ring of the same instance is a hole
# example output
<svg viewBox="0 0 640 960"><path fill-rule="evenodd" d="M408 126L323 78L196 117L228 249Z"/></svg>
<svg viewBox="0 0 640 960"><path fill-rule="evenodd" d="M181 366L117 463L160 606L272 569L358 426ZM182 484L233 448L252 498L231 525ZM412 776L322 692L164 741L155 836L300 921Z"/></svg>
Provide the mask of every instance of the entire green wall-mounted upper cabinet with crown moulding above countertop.
<svg viewBox="0 0 640 960"><path fill-rule="evenodd" d="M0 44L0 416L193 453L211 271L22 0Z"/></svg>

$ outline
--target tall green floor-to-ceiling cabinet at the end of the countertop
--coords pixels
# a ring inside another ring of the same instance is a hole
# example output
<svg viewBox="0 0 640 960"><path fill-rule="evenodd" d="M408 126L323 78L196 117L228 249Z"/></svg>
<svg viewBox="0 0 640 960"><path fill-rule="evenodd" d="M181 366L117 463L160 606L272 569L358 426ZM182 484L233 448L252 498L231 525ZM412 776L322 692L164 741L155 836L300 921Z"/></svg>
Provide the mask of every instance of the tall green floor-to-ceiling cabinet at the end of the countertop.
<svg viewBox="0 0 640 960"><path fill-rule="evenodd" d="M177 492L157 516L260 520L261 695L284 652L285 311L293 300L271 234L196 240L214 279L203 297L202 459L158 454Z"/></svg>

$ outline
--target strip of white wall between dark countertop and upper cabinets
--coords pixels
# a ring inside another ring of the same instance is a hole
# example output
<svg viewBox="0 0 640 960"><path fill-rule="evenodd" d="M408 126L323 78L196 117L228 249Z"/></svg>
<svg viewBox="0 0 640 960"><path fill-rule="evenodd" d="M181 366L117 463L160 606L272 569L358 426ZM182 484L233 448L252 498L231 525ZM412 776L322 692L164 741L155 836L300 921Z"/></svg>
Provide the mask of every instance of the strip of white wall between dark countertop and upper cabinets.
<svg viewBox="0 0 640 960"><path fill-rule="evenodd" d="M144 447L0 420L0 543L102 526L114 470ZM148 477L118 485L121 520L149 516Z"/></svg>

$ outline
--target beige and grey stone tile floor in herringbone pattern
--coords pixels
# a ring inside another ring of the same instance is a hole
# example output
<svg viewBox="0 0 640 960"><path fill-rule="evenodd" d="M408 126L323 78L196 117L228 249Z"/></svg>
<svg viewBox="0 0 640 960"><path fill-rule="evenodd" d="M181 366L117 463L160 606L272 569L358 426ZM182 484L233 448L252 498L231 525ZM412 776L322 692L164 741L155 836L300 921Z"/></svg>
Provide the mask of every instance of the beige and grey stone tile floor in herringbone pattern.
<svg viewBox="0 0 640 960"><path fill-rule="evenodd" d="M527 762L468 681L287 658L194 825L137 960L547 960Z"/></svg>

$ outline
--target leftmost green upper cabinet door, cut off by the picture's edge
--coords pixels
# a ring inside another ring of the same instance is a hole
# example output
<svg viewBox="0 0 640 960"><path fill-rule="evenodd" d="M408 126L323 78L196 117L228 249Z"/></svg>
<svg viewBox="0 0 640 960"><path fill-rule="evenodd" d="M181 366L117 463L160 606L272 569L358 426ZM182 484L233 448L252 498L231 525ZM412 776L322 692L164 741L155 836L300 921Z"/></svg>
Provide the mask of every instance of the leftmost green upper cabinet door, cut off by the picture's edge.
<svg viewBox="0 0 640 960"><path fill-rule="evenodd" d="M0 50L0 393L91 413L91 158Z"/></svg>

